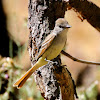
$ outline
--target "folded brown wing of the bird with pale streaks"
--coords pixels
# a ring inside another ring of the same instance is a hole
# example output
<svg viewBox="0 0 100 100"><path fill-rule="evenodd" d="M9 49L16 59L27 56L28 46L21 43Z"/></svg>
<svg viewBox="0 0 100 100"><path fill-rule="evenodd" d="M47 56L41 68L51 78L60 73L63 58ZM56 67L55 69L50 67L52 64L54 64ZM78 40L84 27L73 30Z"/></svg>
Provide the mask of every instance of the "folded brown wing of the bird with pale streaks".
<svg viewBox="0 0 100 100"><path fill-rule="evenodd" d="M42 43L41 50L40 50L40 53L38 55L38 58L41 57L43 55L43 53L46 51L46 49L51 45L55 36L56 36L55 34L51 33L45 38L45 40Z"/></svg>

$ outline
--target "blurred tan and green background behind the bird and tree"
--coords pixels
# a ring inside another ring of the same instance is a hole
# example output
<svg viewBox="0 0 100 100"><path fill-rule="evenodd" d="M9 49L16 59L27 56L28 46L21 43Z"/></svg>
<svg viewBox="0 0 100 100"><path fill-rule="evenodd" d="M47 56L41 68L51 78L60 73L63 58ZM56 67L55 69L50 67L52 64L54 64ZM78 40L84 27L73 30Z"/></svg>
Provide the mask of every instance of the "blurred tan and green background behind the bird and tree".
<svg viewBox="0 0 100 100"><path fill-rule="evenodd" d="M91 0L100 7L99 0ZM0 0L0 100L43 100L33 76L20 89L12 85L31 66L27 50L28 0ZM100 33L73 9L65 14L72 28L66 52L72 56L100 62ZM100 66L74 62L62 55L77 86L79 100L100 100Z"/></svg>

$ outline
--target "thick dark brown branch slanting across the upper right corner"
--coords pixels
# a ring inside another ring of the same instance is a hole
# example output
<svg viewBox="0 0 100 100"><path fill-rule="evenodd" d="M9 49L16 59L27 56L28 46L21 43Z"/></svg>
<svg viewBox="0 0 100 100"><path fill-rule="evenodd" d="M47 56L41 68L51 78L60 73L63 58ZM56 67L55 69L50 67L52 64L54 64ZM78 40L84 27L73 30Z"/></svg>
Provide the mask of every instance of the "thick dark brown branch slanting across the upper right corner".
<svg viewBox="0 0 100 100"><path fill-rule="evenodd" d="M68 0L64 0L67 1ZM100 8L89 0L69 0L68 5L79 12L82 19L86 19L100 32Z"/></svg>

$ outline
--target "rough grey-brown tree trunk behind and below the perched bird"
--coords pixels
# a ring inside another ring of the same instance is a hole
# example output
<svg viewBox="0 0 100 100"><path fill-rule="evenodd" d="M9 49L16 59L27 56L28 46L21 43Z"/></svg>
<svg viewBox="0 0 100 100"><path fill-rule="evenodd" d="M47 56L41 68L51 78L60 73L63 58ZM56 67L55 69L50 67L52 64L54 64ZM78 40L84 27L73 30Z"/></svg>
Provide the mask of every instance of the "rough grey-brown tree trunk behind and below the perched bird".
<svg viewBox="0 0 100 100"><path fill-rule="evenodd" d="M29 53L31 64L37 61L41 43L53 30L55 20L64 17L67 8L62 0L29 0ZM45 100L74 100L72 78L61 66L60 56L35 71L35 80Z"/></svg>

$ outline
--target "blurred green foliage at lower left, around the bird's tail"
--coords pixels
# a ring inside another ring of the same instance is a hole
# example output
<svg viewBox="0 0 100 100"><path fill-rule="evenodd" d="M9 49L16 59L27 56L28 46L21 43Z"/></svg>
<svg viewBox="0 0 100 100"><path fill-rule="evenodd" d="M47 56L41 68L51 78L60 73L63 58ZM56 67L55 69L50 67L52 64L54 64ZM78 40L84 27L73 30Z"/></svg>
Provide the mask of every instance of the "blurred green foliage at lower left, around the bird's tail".
<svg viewBox="0 0 100 100"><path fill-rule="evenodd" d="M23 73L25 71L13 59L0 56L0 100L43 100L33 78L30 78L21 89L13 87L13 83Z"/></svg>

